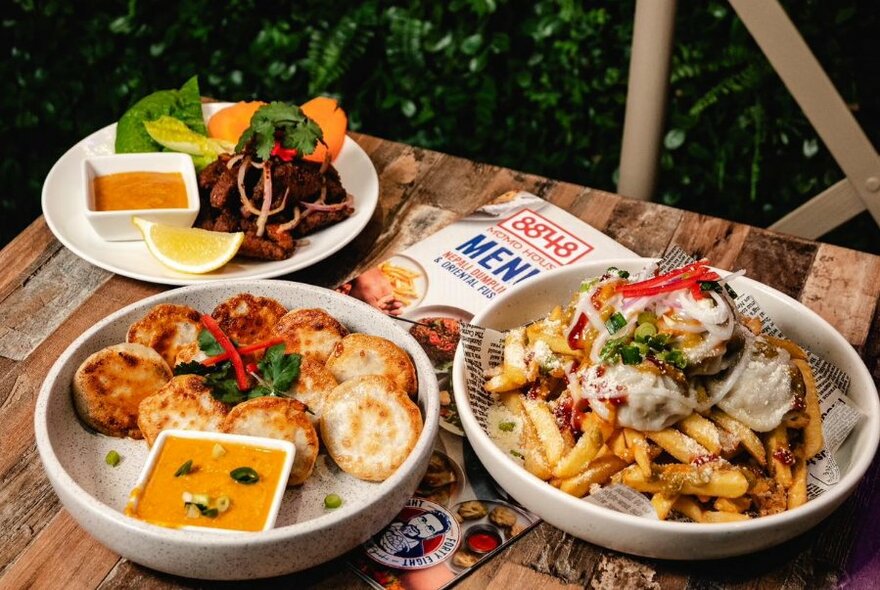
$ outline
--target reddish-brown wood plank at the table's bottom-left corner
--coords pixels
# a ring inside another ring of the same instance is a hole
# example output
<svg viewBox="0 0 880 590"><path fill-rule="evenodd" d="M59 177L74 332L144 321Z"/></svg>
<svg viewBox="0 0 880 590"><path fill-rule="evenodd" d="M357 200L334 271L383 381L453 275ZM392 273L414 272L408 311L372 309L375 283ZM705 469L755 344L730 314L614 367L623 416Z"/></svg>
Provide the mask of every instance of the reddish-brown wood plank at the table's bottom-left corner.
<svg viewBox="0 0 880 590"><path fill-rule="evenodd" d="M5 588L94 588L117 559L62 510L43 529L37 543L4 572L2 584Z"/></svg>

